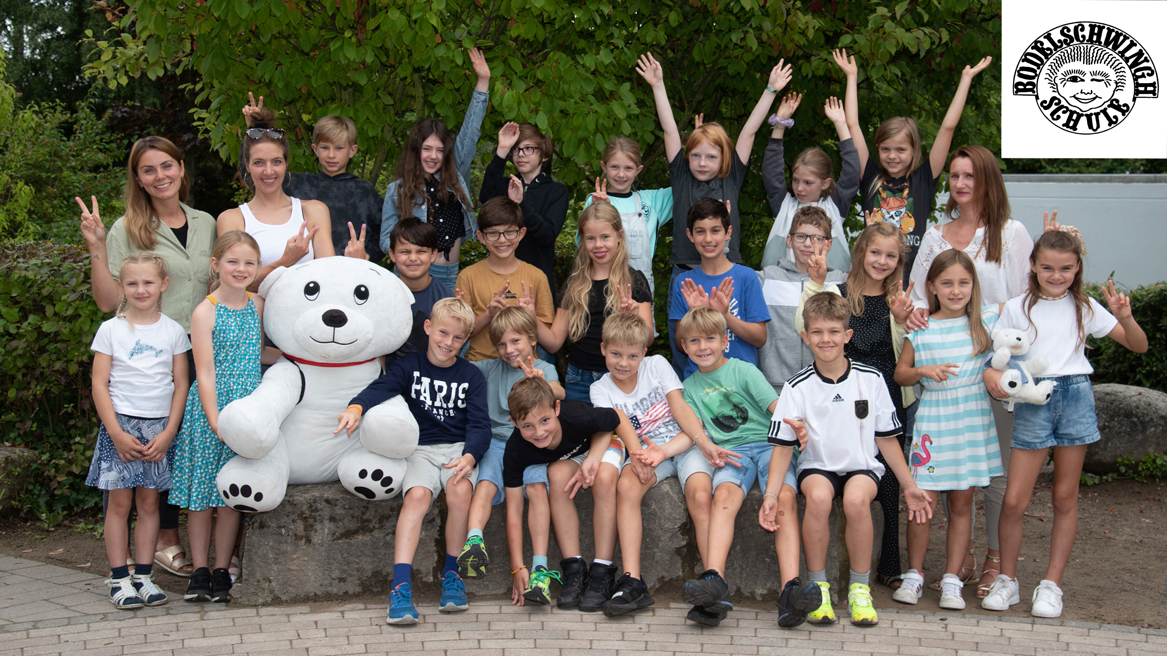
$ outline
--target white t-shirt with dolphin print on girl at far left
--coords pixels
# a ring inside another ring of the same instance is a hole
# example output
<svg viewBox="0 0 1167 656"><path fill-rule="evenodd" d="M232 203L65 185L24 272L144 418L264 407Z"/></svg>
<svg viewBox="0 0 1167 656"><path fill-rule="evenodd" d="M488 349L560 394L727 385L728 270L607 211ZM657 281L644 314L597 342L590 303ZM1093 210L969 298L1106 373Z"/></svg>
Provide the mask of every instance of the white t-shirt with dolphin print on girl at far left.
<svg viewBox="0 0 1167 656"><path fill-rule="evenodd" d="M149 326L114 316L97 328L91 350L113 358L110 397L118 414L169 417L174 399L174 356L190 350L177 321L165 314Z"/></svg>

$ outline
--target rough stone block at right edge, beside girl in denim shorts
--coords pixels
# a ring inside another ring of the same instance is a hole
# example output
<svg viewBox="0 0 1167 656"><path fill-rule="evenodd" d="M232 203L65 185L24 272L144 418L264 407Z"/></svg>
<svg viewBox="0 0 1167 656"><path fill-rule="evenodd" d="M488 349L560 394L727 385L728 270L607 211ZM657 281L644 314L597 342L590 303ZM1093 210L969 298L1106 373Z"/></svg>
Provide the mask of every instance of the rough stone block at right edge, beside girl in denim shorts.
<svg viewBox="0 0 1167 656"><path fill-rule="evenodd" d="M1102 439L1086 448L1084 470L1117 474L1119 456L1139 460L1148 453L1167 453L1167 395L1113 383L1093 390Z"/></svg>

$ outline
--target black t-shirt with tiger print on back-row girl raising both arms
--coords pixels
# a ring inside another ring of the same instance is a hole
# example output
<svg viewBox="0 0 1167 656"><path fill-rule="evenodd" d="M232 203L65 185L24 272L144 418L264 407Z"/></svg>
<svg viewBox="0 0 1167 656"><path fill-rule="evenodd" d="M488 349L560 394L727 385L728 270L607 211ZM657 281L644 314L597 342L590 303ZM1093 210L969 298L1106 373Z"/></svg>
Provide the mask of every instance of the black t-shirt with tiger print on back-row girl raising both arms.
<svg viewBox="0 0 1167 656"><path fill-rule="evenodd" d="M862 198L864 211L872 211L872 221L894 223L907 236L908 254L903 260L903 280L907 282L920 251L920 240L928 231L939 180L932 177L932 165L927 153L920 168L903 177L885 177L872 191L879 172L879 159L872 153L859 180L859 197Z"/></svg>

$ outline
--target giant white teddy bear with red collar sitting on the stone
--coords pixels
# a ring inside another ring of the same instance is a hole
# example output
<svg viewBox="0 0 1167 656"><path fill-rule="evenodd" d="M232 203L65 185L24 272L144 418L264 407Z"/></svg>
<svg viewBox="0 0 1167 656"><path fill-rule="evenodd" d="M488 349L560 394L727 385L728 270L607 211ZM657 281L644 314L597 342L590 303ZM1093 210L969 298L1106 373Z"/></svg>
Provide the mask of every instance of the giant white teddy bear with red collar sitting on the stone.
<svg viewBox="0 0 1167 656"><path fill-rule="evenodd" d="M260 285L264 332L284 351L249 396L219 413L236 454L216 483L226 504L267 511L287 486L340 479L370 501L400 491L418 425L401 397L369 409L361 427L334 434L336 416L380 375L377 357L410 336L413 294L366 260L330 257L271 272Z"/></svg>

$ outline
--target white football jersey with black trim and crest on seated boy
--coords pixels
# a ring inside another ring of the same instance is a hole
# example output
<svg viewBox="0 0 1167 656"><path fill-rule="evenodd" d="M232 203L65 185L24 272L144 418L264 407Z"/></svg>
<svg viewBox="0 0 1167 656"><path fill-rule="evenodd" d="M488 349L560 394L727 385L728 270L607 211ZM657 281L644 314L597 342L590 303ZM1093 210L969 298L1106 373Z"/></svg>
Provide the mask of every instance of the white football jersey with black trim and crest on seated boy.
<svg viewBox="0 0 1167 656"><path fill-rule="evenodd" d="M806 424L806 448L798 455L798 472L847 474L869 469L882 476L883 463L875 460L875 438L894 438L903 432L883 375L861 362L852 362L836 382L820 376L813 364L795 374L782 389L774 418ZM782 421L778 437L771 437L769 442L790 446L797 439L794 428Z"/></svg>

